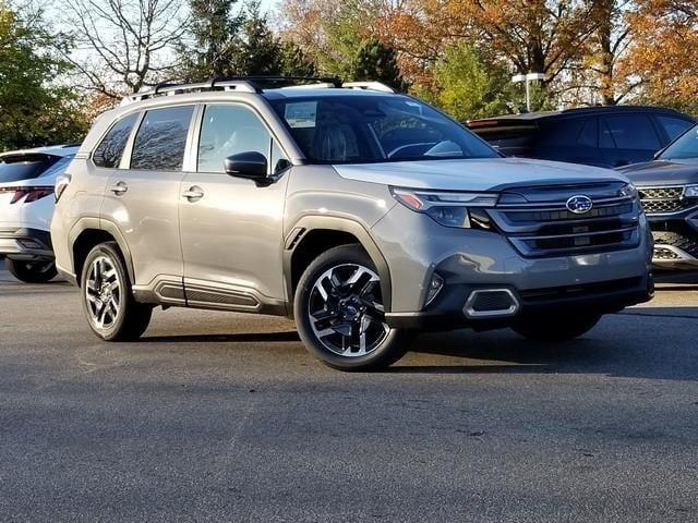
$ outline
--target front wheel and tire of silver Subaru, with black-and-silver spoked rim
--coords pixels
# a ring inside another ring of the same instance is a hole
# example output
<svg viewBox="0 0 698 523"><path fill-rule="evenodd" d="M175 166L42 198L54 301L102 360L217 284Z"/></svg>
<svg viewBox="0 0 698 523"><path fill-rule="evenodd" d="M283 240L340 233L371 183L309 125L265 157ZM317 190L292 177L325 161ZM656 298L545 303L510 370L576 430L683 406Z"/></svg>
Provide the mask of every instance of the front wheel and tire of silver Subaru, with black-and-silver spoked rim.
<svg viewBox="0 0 698 523"><path fill-rule="evenodd" d="M409 349L408 333L385 323L381 279L361 245L318 256L301 277L293 306L306 349L333 368L385 368Z"/></svg>

